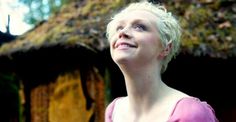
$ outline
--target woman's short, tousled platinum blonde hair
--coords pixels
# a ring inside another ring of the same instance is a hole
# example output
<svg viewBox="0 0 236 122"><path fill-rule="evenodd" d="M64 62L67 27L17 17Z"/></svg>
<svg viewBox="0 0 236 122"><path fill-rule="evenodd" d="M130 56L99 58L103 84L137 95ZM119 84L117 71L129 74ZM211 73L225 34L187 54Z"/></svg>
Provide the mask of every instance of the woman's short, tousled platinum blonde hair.
<svg viewBox="0 0 236 122"><path fill-rule="evenodd" d="M161 72L163 73L171 59L179 52L181 37L181 27L177 19L170 12L167 12L163 5L153 4L150 2L137 2L129 4L128 7L124 8L111 18L111 21L107 25L106 36L110 41L115 32L115 29L112 29L114 27L114 23L124 17L127 13L134 10L144 10L154 14L158 18L156 20L156 27L163 47L165 48L168 43L172 43L172 48L169 54L162 61Z"/></svg>

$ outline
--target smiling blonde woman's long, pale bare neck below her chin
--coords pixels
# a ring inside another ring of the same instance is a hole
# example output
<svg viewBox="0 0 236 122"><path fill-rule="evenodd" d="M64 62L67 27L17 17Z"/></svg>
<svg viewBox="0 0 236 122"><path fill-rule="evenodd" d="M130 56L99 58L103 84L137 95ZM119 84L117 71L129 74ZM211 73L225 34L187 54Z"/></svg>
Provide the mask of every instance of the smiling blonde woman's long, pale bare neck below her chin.
<svg viewBox="0 0 236 122"><path fill-rule="evenodd" d="M161 102L160 99L167 93L167 86L161 81L159 66L120 66L120 68L124 74L131 112L136 115L147 113L153 105Z"/></svg>

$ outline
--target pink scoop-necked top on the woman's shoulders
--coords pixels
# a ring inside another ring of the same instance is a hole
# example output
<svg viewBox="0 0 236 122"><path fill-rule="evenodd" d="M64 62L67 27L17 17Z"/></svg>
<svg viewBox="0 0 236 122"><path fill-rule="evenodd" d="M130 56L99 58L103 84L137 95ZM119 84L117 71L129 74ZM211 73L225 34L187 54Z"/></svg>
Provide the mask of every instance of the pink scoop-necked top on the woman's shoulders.
<svg viewBox="0 0 236 122"><path fill-rule="evenodd" d="M112 122L112 113L115 107L113 100L106 108L105 122ZM219 122L213 108L206 102L195 97L180 99L172 110L167 122Z"/></svg>

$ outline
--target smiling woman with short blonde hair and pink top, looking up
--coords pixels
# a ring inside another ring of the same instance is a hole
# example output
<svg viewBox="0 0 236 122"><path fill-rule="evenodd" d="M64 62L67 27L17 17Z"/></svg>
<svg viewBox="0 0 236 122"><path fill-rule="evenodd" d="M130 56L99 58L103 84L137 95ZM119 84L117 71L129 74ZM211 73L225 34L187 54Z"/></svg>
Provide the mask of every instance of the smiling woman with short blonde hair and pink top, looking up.
<svg viewBox="0 0 236 122"><path fill-rule="evenodd" d="M110 53L121 69L127 96L106 109L106 122L215 122L206 102L161 79L178 52L181 28L164 6L132 3L107 25Z"/></svg>

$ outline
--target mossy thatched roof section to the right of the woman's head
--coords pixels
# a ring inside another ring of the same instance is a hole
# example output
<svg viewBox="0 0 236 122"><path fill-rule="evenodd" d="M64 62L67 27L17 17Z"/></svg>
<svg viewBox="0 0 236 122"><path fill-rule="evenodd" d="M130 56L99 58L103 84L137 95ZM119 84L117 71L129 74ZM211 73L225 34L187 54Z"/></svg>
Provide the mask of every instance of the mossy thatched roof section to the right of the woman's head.
<svg viewBox="0 0 236 122"><path fill-rule="evenodd" d="M196 56L236 56L236 1L184 0L167 3L183 28L182 52Z"/></svg>

